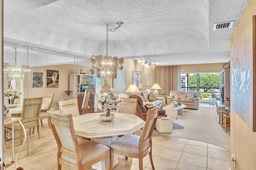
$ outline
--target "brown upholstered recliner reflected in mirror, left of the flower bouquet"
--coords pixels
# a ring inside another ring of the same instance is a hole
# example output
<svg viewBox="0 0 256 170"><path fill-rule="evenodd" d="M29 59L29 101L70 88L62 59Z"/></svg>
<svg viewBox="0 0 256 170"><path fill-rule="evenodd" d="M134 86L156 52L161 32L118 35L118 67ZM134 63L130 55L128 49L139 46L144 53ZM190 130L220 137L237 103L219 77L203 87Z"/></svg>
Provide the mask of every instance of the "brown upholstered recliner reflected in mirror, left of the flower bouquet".
<svg viewBox="0 0 256 170"><path fill-rule="evenodd" d="M80 115L82 115L82 111L83 111L82 104L83 104L83 100L84 100L84 93L85 92L77 93L77 104L78 104L78 109L79 109ZM89 103L88 103L90 108L88 108L87 113L94 113L94 96L95 96L95 93L91 92L90 98L89 98Z"/></svg>

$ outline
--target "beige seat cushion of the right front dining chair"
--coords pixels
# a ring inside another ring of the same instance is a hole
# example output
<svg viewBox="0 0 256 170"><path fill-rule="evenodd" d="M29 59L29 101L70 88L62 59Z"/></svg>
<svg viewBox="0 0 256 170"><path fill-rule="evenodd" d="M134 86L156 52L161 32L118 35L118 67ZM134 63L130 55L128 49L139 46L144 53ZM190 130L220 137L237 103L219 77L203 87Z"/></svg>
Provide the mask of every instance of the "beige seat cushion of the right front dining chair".
<svg viewBox="0 0 256 170"><path fill-rule="evenodd" d="M137 135L129 134L116 139L116 141L111 143L109 147L114 150L139 154L139 141L140 137Z"/></svg>

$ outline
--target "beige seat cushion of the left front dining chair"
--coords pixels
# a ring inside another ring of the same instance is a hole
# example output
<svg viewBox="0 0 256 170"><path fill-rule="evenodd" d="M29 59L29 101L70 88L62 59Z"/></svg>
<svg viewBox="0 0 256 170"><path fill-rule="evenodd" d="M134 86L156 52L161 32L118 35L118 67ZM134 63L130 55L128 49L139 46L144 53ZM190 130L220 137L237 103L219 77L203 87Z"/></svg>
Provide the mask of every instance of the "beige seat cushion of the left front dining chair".
<svg viewBox="0 0 256 170"><path fill-rule="evenodd" d="M81 149L81 164L86 164L110 150L110 148L106 145L102 145L93 141L88 141L86 139L78 140L78 143ZM65 154L61 154L61 158L67 160L68 162L76 164L76 158L72 158Z"/></svg>

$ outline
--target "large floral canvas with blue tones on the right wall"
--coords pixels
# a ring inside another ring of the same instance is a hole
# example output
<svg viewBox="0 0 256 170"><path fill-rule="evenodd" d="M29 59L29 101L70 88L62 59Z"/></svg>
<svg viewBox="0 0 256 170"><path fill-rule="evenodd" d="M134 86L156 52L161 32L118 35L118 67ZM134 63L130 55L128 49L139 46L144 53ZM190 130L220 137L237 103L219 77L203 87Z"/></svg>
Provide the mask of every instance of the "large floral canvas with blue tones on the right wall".
<svg viewBox="0 0 256 170"><path fill-rule="evenodd" d="M254 33L252 33L254 27ZM255 17L252 27L243 29L236 41L230 46L230 70L231 70L231 91L230 106L241 117L241 119L256 131L255 105L256 98L253 94L256 90L255 80ZM252 35L254 34L254 36Z"/></svg>

